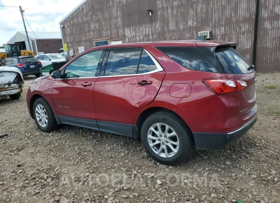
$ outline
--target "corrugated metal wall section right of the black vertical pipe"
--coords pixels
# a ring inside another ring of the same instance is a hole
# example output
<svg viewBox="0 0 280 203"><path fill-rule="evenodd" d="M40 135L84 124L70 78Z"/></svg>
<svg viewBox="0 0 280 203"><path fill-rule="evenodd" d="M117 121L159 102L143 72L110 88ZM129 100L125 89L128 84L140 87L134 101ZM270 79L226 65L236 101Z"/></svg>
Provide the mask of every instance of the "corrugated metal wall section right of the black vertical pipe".
<svg viewBox="0 0 280 203"><path fill-rule="evenodd" d="M260 0L257 71L280 70L280 1Z"/></svg>

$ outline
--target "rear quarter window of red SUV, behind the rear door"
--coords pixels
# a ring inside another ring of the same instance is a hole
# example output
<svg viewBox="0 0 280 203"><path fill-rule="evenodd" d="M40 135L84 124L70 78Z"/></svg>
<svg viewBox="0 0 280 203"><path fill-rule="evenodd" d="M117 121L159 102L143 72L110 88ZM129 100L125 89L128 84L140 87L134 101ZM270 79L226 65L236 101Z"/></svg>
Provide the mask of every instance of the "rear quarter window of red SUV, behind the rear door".
<svg viewBox="0 0 280 203"><path fill-rule="evenodd" d="M185 68L219 72L198 47L157 47L157 49Z"/></svg>

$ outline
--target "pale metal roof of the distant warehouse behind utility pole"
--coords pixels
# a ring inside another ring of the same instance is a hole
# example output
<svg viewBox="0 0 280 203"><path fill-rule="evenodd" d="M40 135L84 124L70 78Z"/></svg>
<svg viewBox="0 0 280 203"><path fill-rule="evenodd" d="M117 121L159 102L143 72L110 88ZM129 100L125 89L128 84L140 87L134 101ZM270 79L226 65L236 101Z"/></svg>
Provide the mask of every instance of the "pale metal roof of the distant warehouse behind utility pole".
<svg viewBox="0 0 280 203"><path fill-rule="evenodd" d="M61 39L60 32L27 32L29 40L34 39ZM25 32L17 32L7 43L26 41Z"/></svg>

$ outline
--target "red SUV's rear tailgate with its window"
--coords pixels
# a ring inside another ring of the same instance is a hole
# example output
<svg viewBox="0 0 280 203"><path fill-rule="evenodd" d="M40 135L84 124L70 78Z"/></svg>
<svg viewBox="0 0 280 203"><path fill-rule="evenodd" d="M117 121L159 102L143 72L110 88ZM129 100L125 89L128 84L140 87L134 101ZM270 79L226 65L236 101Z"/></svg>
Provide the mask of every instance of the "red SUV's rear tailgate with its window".
<svg viewBox="0 0 280 203"><path fill-rule="evenodd" d="M244 85L244 89L241 92L236 92L237 114L243 116L251 110L252 114L254 114L257 110L256 74L254 69L250 70L250 65L233 47L217 47L215 53L226 71L223 75L227 78L236 79L238 83Z"/></svg>

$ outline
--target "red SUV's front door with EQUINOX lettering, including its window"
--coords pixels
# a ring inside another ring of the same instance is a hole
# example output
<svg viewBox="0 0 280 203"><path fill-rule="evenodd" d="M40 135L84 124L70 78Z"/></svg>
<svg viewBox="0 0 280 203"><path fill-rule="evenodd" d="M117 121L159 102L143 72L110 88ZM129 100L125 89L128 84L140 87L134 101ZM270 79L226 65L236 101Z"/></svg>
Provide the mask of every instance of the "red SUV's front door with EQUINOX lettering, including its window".
<svg viewBox="0 0 280 203"><path fill-rule="evenodd" d="M53 101L62 123L98 129L93 88L104 53L85 53L61 70L61 79L55 79Z"/></svg>

